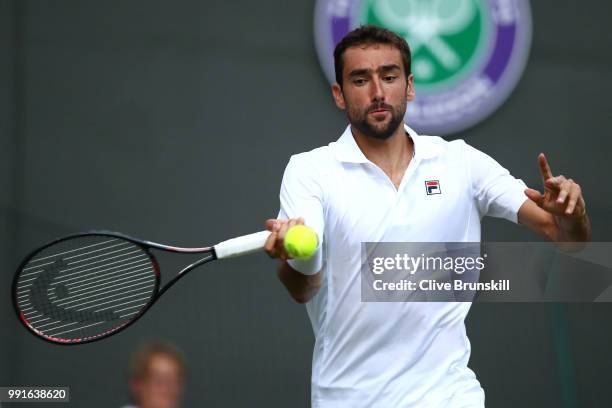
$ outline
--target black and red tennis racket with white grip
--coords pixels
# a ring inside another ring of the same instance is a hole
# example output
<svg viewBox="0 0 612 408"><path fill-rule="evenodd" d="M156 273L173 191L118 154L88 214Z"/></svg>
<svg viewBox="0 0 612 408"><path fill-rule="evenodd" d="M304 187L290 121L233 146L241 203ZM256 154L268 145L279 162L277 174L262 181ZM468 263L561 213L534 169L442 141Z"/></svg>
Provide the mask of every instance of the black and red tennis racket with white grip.
<svg viewBox="0 0 612 408"><path fill-rule="evenodd" d="M82 344L117 334L138 320L189 271L263 249L269 231L212 247L179 248L109 231L60 238L33 251L13 280L13 305L34 335L58 344ZM160 289L151 249L201 253Z"/></svg>

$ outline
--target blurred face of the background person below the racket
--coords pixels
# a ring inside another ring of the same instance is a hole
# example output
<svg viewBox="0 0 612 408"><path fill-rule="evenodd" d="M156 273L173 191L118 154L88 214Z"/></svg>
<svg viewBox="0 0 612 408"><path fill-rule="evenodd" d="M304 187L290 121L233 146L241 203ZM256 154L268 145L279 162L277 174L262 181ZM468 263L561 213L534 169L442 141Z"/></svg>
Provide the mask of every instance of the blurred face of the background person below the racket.
<svg viewBox="0 0 612 408"><path fill-rule="evenodd" d="M176 408L183 389L181 369L173 358L154 354L144 378L133 380L131 388L139 408Z"/></svg>

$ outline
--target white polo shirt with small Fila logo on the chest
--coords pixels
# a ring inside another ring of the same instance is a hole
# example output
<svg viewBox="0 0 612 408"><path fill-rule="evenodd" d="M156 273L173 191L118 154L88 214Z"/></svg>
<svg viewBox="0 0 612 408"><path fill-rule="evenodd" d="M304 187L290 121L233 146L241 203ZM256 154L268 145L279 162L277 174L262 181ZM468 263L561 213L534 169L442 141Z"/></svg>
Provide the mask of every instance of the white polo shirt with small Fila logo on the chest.
<svg viewBox="0 0 612 408"><path fill-rule="evenodd" d="M337 142L291 157L279 218L304 217L322 245L305 274L322 269L306 308L315 334L312 406L483 407L467 367L470 303L361 302L362 242L478 242L485 215L517 221L525 184L462 140L419 136L399 189L357 146ZM428 195L426 181L440 194Z"/></svg>

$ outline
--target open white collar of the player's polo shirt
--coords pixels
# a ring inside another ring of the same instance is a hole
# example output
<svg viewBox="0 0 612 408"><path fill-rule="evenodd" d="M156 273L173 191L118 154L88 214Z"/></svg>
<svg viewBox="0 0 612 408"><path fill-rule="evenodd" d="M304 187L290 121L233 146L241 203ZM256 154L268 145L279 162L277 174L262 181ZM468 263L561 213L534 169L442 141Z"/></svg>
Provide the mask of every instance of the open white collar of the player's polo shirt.
<svg viewBox="0 0 612 408"><path fill-rule="evenodd" d="M419 159L431 159L438 155L439 148L429 138L418 135L408 125L404 124L404 129L410 135L410 138L414 142L414 154L415 158ZM348 125L340 138L330 143L330 146L334 150L336 158L341 162L346 163L369 163L367 157L363 154L353 133L351 132L351 125Z"/></svg>

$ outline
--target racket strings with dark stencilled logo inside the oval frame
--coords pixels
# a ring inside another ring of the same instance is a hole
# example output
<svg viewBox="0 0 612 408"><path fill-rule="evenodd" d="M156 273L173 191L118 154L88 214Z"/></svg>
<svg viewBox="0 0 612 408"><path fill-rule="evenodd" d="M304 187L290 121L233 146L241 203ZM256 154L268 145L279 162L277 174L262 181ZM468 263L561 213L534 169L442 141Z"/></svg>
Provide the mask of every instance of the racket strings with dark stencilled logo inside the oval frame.
<svg viewBox="0 0 612 408"><path fill-rule="evenodd" d="M82 236L47 247L27 262L16 299L40 334L76 341L127 323L149 303L157 284L155 265L140 246Z"/></svg>

